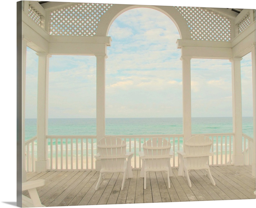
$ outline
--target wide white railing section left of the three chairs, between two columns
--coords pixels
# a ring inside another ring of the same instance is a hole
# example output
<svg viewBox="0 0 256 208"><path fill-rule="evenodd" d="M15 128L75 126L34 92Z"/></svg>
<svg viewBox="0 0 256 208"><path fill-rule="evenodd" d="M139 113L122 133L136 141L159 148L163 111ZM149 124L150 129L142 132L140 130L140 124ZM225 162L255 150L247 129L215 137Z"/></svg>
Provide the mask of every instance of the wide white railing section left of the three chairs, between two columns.
<svg viewBox="0 0 256 208"><path fill-rule="evenodd" d="M46 136L50 170L95 170L96 136Z"/></svg>

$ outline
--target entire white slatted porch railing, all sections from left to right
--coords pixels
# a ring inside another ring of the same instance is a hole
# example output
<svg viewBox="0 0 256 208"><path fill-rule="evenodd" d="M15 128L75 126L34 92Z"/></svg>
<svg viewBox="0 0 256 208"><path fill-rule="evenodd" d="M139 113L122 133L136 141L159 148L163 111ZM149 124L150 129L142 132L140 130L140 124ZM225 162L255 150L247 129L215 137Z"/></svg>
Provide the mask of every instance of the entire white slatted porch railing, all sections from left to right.
<svg viewBox="0 0 256 208"><path fill-rule="evenodd" d="M204 134L213 141L210 157L210 166L232 165L234 133L214 133ZM127 151L134 152L132 158L133 169L141 168L141 161L138 153L142 151L142 145L152 137L164 137L172 144L175 152L171 159L172 167L178 167L177 151L183 149L183 134L170 135L114 135L122 138L127 144ZM26 170L35 171L35 161L37 158L37 136L25 142ZM95 158L97 153L96 136L89 135L49 135L48 158L50 160L49 170L95 170ZM253 139L243 134L243 156L244 164L250 165L253 159Z"/></svg>

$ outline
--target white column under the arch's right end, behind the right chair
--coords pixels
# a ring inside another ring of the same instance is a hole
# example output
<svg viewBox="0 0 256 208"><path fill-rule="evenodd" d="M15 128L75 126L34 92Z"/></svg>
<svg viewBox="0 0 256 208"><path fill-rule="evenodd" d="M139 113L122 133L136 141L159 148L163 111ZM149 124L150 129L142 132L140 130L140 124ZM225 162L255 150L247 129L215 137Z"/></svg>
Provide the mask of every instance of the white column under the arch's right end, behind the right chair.
<svg viewBox="0 0 256 208"><path fill-rule="evenodd" d="M182 60L182 98L183 98L183 143L191 137L191 73L190 56L181 56Z"/></svg>

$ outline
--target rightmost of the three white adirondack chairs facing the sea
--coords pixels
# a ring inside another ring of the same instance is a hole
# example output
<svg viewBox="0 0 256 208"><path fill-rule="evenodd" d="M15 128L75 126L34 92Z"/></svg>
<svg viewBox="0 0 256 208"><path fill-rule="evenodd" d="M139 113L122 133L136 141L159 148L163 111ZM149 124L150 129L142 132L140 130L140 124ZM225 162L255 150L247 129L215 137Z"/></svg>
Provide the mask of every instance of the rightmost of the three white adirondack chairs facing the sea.
<svg viewBox="0 0 256 208"><path fill-rule="evenodd" d="M188 172L190 170L204 169L204 174L208 175L212 184L215 186L215 181L212 178L210 168L207 164L209 156L214 153L211 152L212 141L205 135L195 135L187 140L184 144L184 152L177 151L179 155L179 170L178 176L184 177L184 171L191 187L191 181Z"/></svg>

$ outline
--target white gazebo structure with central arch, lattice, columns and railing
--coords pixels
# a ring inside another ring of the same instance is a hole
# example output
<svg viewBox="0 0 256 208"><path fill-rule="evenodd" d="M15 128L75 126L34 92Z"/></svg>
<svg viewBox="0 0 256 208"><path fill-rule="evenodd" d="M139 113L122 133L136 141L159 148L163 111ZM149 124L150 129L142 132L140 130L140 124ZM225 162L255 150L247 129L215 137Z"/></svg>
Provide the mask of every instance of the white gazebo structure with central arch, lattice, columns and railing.
<svg viewBox="0 0 256 208"><path fill-rule="evenodd" d="M217 138L217 148L225 149L209 161L212 166L250 165L255 179L256 146L256 98L255 98L255 9L200 8L180 6L150 6L126 4L97 4L74 2L20 1L17 3L18 60L17 77L22 82L18 89L18 148L22 181L27 180L27 172L99 170L100 161L95 160L93 141L105 137L105 60L107 47L111 47L108 31L123 12L146 7L167 15L177 26L180 39L177 48L181 49L182 89L183 89L183 134L161 135L169 141L186 141L191 133L191 59L226 59L232 63L232 113L233 132L208 134ZM20 11L19 11L20 10ZM67 15L68 14L68 15ZM82 15L81 15L82 14ZM77 16L80 15L80 18ZM67 17L68 16L68 17ZM27 47L38 55L38 99L37 135L25 142L25 83ZM242 132L241 60L251 52L253 87L253 138ZM96 84L96 125L97 133L91 135L48 135L48 78L51 55L93 55L97 61ZM127 148L135 144L134 152L141 150L141 141L153 135L119 135L127 142ZM232 141L232 144L231 144ZM219 143L218 143L219 142ZM137 144L137 145L136 145ZM220 144L220 145L219 145ZM232 146L232 149L231 149ZM91 151L89 149L92 149ZM178 149L173 147L174 152ZM73 154L65 151L71 149ZM79 154L78 154L79 150ZM57 158L60 151L60 158ZM232 152L232 153L231 153ZM55 156L54 156L55 155ZM75 155L73 157L73 155ZM141 168L136 154L132 160L133 169ZM60 160L58 160L60 159ZM68 162L70 161L70 163ZM179 164L172 160L173 167ZM19 176L18 176L19 177Z"/></svg>

